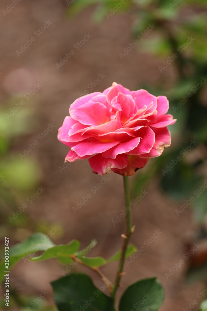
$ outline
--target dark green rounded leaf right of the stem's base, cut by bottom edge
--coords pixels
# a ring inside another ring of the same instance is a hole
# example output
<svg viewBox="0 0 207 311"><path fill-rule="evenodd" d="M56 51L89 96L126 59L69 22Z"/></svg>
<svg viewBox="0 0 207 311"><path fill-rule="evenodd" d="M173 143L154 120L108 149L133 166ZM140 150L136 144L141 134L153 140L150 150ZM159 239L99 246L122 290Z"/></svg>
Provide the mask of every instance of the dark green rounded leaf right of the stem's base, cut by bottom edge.
<svg viewBox="0 0 207 311"><path fill-rule="evenodd" d="M164 289L156 277L140 280L130 285L119 303L119 311L157 311L164 300Z"/></svg>

